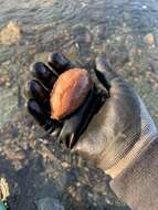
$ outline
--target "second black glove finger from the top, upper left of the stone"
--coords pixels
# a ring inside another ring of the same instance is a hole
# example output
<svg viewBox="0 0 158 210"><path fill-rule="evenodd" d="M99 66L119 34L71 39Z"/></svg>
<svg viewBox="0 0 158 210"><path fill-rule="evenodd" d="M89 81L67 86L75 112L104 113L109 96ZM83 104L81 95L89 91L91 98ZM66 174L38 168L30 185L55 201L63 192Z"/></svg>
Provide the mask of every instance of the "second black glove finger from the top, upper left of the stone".
<svg viewBox="0 0 158 210"><path fill-rule="evenodd" d="M57 75L48 65L42 62L36 62L30 67L33 77L39 80L48 90L52 90Z"/></svg>

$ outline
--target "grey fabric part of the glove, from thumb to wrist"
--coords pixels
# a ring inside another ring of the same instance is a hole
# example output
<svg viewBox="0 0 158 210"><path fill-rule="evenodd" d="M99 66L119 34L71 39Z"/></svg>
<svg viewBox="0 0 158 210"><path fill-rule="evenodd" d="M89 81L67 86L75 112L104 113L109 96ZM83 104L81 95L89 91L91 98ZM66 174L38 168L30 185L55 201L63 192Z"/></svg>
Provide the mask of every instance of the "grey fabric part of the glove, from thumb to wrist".
<svg viewBox="0 0 158 210"><path fill-rule="evenodd" d="M96 59L96 70L109 84L109 98L94 116L73 151L93 159L104 170L124 158L138 141L157 134L144 103L136 92L112 70L104 56Z"/></svg>

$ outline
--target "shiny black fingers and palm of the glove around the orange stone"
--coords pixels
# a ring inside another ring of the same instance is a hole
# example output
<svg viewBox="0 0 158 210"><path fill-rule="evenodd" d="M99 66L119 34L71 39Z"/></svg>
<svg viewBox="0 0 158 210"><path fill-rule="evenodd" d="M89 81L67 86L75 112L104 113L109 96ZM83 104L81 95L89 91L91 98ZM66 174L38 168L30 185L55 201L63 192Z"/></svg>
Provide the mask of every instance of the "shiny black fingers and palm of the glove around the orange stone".
<svg viewBox="0 0 158 210"><path fill-rule="evenodd" d="M59 75L72 67L74 64L63 54L52 53L48 64L38 62L31 66L32 78L25 85L30 114L53 139L64 143L70 148L77 141L91 118L108 96L106 87L97 80L95 72L91 71L94 85L84 104L63 120L51 119L50 92Z"/></svg>

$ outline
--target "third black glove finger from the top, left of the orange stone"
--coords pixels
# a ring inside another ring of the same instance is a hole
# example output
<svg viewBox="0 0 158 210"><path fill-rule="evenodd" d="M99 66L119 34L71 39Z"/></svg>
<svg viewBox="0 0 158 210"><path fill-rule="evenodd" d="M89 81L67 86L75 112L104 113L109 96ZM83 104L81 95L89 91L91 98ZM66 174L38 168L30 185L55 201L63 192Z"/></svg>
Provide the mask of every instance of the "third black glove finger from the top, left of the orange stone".
<svg viewBox="0 0 158 210"><path fill-rule="evenodd" d="M40 84L39 81L28 81L24 91L28 98L34 98L44 112L50 113L50 93Z"/></svg>

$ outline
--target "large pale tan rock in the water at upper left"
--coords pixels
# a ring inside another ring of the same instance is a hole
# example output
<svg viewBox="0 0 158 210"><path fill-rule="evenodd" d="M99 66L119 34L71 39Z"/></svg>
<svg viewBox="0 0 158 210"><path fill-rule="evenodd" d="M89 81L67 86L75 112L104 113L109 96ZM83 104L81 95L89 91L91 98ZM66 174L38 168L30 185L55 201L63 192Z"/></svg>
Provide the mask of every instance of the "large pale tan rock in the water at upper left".
<svg viewBox="0 0 158 210"><path fill-rule="evenodd" d="M21 30L19 25L10 21L6 28L0 31L0 43L10 45L19 42L21 39Z"/></svg>

